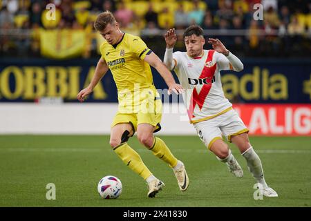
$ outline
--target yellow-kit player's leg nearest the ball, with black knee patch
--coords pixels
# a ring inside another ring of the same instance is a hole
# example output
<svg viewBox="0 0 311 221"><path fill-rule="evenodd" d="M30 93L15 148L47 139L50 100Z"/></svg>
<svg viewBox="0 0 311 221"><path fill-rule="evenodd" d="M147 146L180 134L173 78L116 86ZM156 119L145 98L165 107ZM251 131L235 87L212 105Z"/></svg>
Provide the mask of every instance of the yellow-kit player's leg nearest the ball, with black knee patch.
<svg viewBox="0 0 311 221"><path fill-rule="evenodd" d="M153 186L153 191L148 193L148 196L152 198L158 193L159 189L162 189L162 182L158 182L158 179L152 175L142 162L140 155L126 143L133 133L131 124L117 124L111 128L110 144L113 151L117 153L126 166L129 166L132 171L138 173Z"/></svg>

